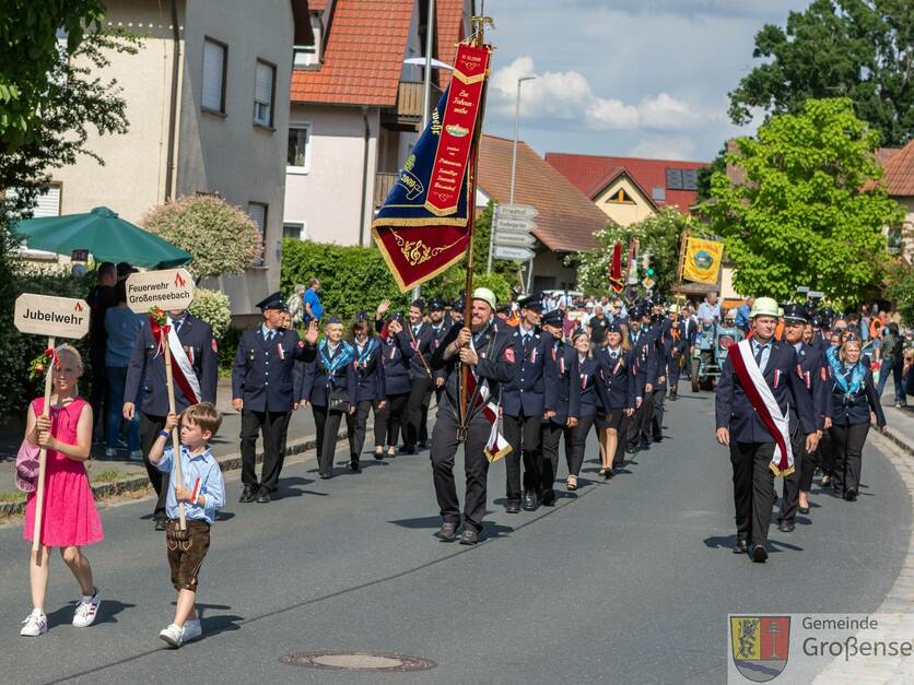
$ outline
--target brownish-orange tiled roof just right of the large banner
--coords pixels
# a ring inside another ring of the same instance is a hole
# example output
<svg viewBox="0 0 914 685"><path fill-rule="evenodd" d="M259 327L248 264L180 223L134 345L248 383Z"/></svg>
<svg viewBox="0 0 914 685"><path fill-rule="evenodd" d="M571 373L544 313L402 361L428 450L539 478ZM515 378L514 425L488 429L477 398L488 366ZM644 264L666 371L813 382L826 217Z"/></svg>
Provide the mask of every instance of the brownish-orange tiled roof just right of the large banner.
<svg viewBox="0 0 914 685"><path fill-rule="evenodd" d="M479 187L493 200L511 197L512 141L483 135L479 156ZM578 252L597 247L594 233L608 217L526 143L517 143L514 200L539 211L534 235L556 252Z"/></svg>

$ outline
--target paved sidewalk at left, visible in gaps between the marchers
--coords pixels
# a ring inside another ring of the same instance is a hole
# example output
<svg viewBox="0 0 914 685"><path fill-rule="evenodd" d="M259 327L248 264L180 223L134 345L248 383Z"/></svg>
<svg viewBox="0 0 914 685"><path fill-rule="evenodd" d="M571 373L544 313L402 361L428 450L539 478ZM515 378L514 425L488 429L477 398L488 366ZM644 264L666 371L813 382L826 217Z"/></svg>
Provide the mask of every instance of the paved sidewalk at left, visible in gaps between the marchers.
<svg viewBox="0 0 914 685"><path fill-rule="evenodd" d="M210 444L213 456L223 471L241 469L242 456L238 451L241 436L241 415L232 409L231 380L220 379L216 392L216 406L223 413L219 435ZM372 425L370 421L370 426ZM286 458L315 448L314 414L310 409L292 414L289 422ZM345 437L345 424L340 430ZM371 435L371 433L368 434ZM0 445L0 519L20 513L25 506L25 495L15 489L15 453L21 437L14 441L7 439ZM262 439L257 441L257 461L263 457ZM117 457L105 457L104 445L94 445L89 477L96 499L112 497L122 493L142 491L149 487L145 466L142 462L130 461L127 450L118 450Z"/></svg>

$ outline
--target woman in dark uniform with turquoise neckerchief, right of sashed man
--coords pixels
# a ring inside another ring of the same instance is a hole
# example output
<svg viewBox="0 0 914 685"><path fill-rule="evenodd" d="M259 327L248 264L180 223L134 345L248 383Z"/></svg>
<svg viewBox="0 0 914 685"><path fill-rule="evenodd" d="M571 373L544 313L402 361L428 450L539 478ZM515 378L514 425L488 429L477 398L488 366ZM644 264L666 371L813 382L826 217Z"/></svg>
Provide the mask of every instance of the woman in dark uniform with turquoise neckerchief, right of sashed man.
<svg viewBox="0 0 914 685"><path fill-rule="evenodd" d="M862 359L860 352L860 338L851 332L844 333L841 347L825 352L833 382L830 433L834 466L831 480L835 495L847 501L857 499L870 411L876 414L879 429L886 430L886 416L872 382L872 371Z"/></svg>

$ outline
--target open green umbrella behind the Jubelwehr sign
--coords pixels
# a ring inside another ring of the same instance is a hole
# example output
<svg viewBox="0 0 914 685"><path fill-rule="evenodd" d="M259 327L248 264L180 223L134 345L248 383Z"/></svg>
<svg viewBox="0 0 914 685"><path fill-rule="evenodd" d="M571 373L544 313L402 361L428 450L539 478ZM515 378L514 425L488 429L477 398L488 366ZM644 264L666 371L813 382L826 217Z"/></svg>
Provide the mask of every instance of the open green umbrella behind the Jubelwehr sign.
<svg viewBox="0 0 914 685"><path fill-rule="evenodd" d="M124 221L106 206L96 206L87 214L27 219L16 223L14 231L31 249L58 255L89 250L96 261L168 269L194 259L190 252Z"/></svg>

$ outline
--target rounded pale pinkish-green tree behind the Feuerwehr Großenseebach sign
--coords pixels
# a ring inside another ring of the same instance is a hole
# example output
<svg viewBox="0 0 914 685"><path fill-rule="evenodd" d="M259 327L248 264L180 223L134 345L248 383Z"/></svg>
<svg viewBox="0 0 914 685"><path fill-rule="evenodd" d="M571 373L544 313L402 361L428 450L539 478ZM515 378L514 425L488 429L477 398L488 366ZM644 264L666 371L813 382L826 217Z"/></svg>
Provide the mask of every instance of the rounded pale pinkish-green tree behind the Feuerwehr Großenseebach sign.
<svg viewBox="0 0 914 685"><path fill-rule="evenodd" d="M257 224L215 196L186 196L150 210L143 228L194 255L187 270L199 283L226 273L244 273L262 250Z"/></svg>

